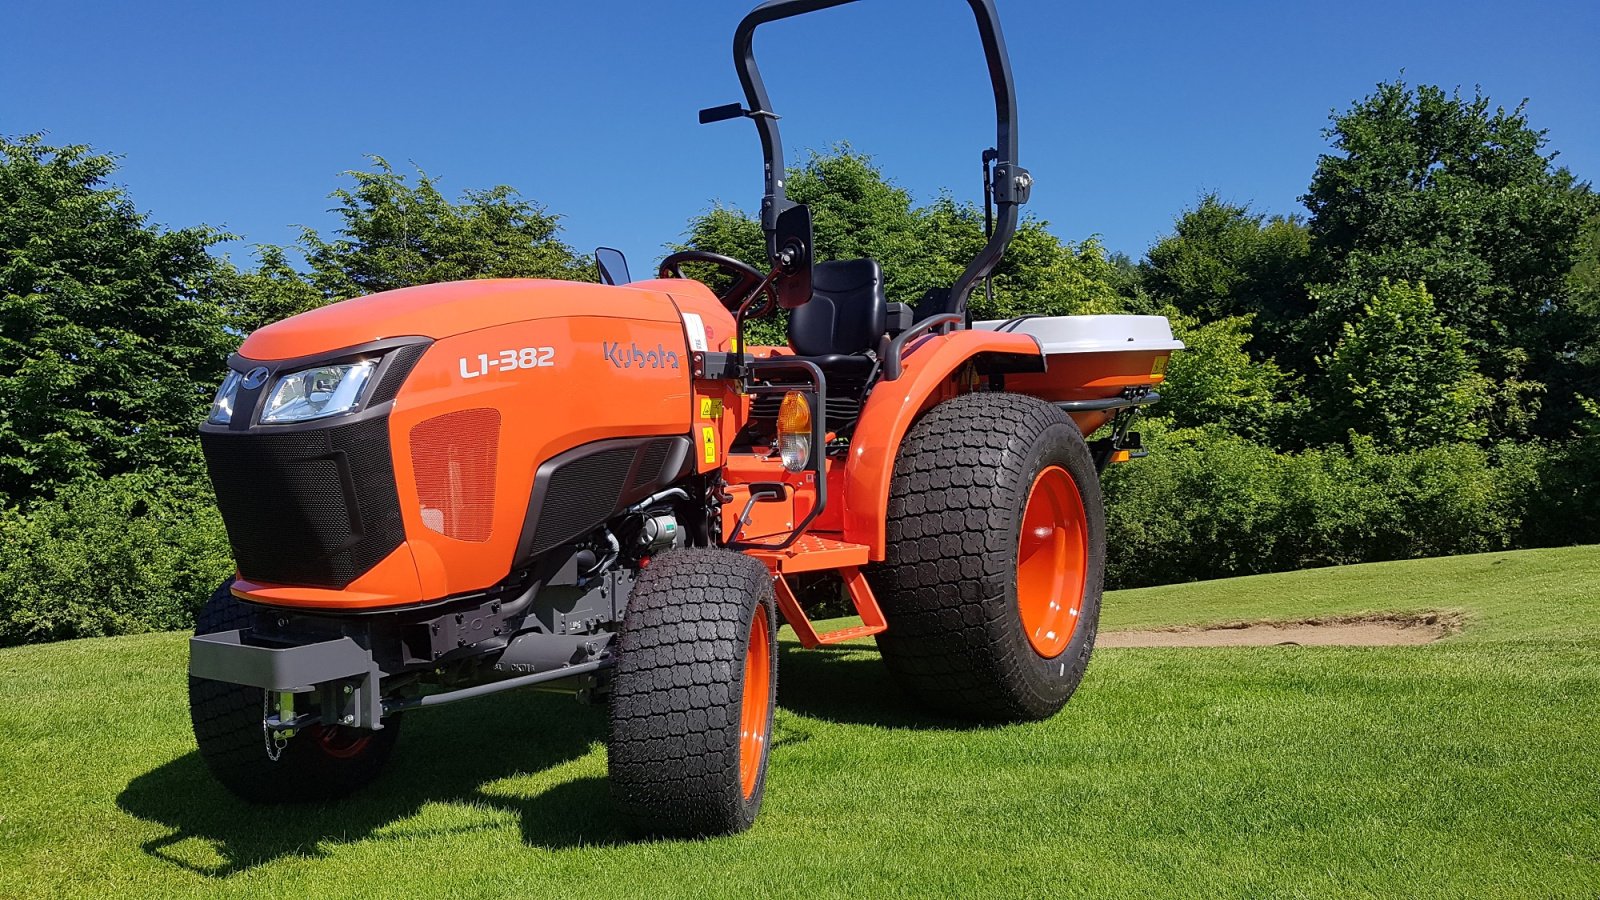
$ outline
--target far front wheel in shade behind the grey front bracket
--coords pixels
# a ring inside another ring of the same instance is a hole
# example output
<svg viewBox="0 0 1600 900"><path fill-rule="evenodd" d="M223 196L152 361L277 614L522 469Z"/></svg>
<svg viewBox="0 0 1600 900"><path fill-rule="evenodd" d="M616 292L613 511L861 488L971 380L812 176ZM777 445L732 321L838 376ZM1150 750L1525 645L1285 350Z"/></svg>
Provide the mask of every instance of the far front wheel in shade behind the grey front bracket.
<svg viewBox="0 0 1600 900"><path fill-rule="evenodd" d="M251 618L251 609L224 581L200 610L195 634L248 628ZM262 727L266 705L259 687L189 679L189 719L200 759L222 786L251 802L312 802L349 794L382 772L400 737L400 721L389 719L378 732L312 725L278 741Z"/></svg>

